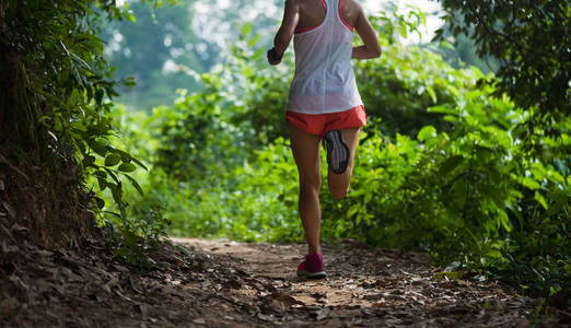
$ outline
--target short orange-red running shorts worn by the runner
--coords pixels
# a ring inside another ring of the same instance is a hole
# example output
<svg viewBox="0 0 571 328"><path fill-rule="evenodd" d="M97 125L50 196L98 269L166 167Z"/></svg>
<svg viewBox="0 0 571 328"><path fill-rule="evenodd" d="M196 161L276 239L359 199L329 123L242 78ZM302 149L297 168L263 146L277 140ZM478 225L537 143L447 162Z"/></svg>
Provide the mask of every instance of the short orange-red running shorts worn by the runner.
<svg viewBox="0 0 571 328"><path fill-rule="evenodd" d="M292 122L298 128L321 138L325 132L331 130L345 130L360 128L366 124L366 113L364 106L359 105L351 109L330 114L302 114L286 112L286 120Z"/></svg>

